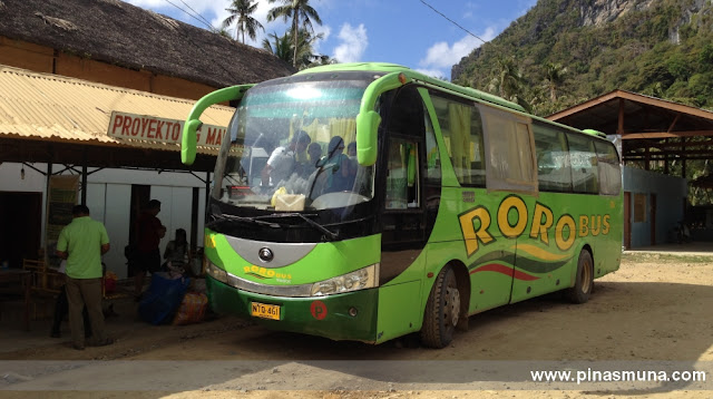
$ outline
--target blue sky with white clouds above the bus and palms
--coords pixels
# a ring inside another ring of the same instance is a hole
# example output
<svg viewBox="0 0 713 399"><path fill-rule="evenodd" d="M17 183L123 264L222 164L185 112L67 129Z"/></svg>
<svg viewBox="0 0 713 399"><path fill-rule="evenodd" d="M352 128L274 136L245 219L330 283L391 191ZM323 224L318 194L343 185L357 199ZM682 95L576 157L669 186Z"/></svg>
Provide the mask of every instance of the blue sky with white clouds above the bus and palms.
<svg viewBox="0 0 713 399"><path fill-rule="evenodd" d="M537 0L424 0L460 27L482 40L491 40L510 22L525 14ZM219 26L228 16L229 0L128 0L128 2L169 16L184 22L207 28L197 12L212 26ZM173 3L173 4L172 4ZM277 1L276 3L280 3ZM275 3L275 4L276 4ZM324 35L316 51L342 62L382 61L400 64L427 75L450 79L450 69L482 41L438 14L421 0L311 0L322 26L315 32ZM175 6L174 6L175 4ZM261 47L267 33L282 36L282 20L267 22L267 11L275 4L258 0L256 18L265 28L257 40L248 45ZM180 8L180 9L179 9ZM192 11L192 9L194 11ZM234 26L229 28L235 35Z"/></svg>

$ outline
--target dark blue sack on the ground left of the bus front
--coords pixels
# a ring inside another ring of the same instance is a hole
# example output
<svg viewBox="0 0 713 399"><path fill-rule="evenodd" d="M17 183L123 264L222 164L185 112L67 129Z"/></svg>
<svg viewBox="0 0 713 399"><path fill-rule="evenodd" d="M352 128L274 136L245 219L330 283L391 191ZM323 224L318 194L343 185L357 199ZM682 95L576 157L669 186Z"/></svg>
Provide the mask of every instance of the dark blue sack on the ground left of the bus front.
<svg viewBox="0 0 713 399"><path fill-rule="evenodd" d="M173 319L180 305L191 279L170 279L166 273L152 274L152 284L138 304L141 320L160 324Z"/></svg>

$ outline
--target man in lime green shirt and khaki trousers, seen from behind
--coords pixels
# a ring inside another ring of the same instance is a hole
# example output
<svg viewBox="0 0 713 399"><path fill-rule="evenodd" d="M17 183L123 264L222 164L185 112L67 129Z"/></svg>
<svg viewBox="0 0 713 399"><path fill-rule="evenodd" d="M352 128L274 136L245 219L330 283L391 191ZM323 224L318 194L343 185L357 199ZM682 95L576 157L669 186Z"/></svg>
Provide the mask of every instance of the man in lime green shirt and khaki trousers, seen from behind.
<svg viewBox="0 0 713 399"><path fill-rule="evenodd" d="M75 349L85 349L82 309L87 305L91 322L90 346L114 343L107 338L101 312L101 255L109 251L109 236L101 222L89 217L86 205L72 208L72 221L62 228L57 241L57 255L67 260L67 300L69 325Z"/></svg>

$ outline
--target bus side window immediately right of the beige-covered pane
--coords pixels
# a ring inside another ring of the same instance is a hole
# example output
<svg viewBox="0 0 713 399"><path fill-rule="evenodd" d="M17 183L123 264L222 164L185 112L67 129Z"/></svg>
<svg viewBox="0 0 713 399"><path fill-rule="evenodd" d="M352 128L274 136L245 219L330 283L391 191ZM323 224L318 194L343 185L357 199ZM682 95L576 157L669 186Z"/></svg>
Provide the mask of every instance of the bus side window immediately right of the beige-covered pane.
<svg viewBox="0 0 713 399"><path fill-rule="evenodd" d="M539 189L544 192L570 193L572 168L565 133L533 124L535 150L537 154L537 178Z"/></svg>

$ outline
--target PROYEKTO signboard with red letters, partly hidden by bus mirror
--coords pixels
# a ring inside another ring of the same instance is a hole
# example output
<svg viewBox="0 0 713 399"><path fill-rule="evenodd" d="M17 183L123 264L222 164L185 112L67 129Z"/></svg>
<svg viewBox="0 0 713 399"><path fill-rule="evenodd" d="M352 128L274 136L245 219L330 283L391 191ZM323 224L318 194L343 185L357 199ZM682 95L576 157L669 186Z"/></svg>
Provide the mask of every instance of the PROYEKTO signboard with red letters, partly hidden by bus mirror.
<svg viewBox="0 0 713 399"><path fill-rule="evenodd" d="M136 115L111 111L109 119L110 137L135 139L149 143L180 144L184 120L158 118L149 115ZM203 147L219 147L227 130L224 126L203 125L197 130L197 144Z"/></svg>

